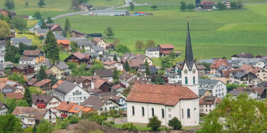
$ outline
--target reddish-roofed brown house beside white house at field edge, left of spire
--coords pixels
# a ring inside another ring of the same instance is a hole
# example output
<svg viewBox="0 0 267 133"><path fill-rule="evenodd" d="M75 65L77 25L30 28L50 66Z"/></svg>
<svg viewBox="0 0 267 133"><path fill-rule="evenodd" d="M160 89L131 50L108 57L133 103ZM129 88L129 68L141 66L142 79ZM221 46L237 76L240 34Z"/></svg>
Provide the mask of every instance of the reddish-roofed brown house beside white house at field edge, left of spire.
<svg viewBox="0 0 267 133"><path fill-rule="evenodd" d="M159 49L159 55L160 56L169 55L171 51L176 54L176 57L181 57L181 55L182 55L182 52L180 52L180 51L173 51L174 46L172 44L160 44L157 47Z"/></svg>

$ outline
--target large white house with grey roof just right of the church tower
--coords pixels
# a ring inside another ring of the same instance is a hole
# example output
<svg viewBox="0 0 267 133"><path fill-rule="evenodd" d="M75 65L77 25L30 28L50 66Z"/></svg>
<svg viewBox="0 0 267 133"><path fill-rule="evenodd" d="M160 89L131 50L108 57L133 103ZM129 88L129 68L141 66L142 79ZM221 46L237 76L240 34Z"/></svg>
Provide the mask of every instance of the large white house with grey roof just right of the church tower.
<svg viewBox="0 0 267 133"><path fill-rule="evenodd" d="M218 98L226 95L226 85L220 80L198 79L198 89L209 90Z"/></svg>

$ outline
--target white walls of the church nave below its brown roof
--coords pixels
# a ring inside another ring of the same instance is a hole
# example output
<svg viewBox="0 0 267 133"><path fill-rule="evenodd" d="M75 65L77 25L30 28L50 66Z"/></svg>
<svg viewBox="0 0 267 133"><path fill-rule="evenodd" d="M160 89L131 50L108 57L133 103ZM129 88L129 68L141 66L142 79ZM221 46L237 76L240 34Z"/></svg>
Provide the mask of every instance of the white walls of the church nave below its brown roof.
<svg viewBox="0 0 267 133"><path fill-rule="evenodd" d="M144 108L144 116L142 115L142 107ZM159 120L162 121L162 125L168 126L168 121L173 117L177 117L183 126L196 126L199 123L198 98L181 99L175 106L127 102L127 122L149 123L149 118L152 117L152 108L154 109L154 115L158 116ZM188 113L189 117L187 117L187 110L190 112Z"/></svg>

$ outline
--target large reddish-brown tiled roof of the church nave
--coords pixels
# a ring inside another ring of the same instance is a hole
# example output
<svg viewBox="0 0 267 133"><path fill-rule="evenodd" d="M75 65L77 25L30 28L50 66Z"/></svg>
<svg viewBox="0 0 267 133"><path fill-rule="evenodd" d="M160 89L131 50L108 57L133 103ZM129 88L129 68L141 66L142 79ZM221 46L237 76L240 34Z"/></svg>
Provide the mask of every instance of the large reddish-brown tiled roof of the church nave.
<svg viewBox="0 0 267 133"><path fill-rule="evenodd" d="M180 99L196 98L198 95L187 87L135 84L126 101L175 106Z"/></svg>

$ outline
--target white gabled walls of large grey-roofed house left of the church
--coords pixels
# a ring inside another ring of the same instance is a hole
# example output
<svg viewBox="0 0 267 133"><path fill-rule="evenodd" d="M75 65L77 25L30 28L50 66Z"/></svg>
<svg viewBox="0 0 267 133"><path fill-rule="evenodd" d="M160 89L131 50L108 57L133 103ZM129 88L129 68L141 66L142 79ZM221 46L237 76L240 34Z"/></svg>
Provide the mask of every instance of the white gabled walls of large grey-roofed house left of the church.
<svg viewBox="0 0 267 133"><path fill-rule="evenodd" d="M90 96L90 94L87 91L83 90L81 87L77 85L66 95L60 95L58 93L55 93L54 91L52 91L52 95L58 96L58 98L61 101L69 101L76 103L77 105L80 105L85 99L87 99Z"/></svg>

